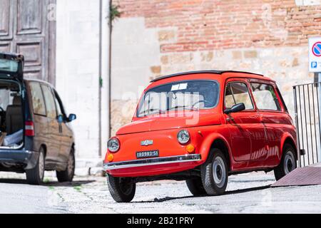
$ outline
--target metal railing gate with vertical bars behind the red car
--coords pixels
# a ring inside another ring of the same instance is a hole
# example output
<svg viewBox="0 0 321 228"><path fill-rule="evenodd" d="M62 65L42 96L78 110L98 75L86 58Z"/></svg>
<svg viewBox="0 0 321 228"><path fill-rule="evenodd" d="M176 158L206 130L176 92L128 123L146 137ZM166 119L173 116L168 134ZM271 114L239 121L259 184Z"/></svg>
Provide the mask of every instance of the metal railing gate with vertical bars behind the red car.
<svg viewBox="0 0 321 228"><path fill-rule="evenodd" d="M321 161L321 83L293 87L299 166Z"/></svg>

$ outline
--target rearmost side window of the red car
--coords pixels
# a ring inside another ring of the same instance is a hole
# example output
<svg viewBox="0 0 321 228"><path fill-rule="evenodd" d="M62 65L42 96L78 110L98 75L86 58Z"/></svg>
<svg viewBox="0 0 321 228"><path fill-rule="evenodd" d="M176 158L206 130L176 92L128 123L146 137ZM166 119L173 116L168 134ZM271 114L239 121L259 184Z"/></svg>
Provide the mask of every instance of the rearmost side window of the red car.
<svg viewBox="0 0 321 228"><path fill-rule="evenodd" d="M258 109L280 111L280 103L273 86L262 83L251 83L253 97Z"/></svg>

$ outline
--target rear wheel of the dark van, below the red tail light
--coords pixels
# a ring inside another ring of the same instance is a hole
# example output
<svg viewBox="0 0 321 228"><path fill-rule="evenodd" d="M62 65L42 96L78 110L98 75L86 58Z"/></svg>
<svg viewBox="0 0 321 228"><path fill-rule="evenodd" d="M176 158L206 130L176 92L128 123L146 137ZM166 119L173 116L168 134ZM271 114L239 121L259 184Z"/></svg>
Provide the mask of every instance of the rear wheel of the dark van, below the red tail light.
<svg viewBox="0 0 321 228"><path fill-rule="evenodd" d="M39 150L39 158L36 166L32 170L26 170L26 180L29 185L41 185L44 180L45 170L45 152L41 147Z"/></svg>

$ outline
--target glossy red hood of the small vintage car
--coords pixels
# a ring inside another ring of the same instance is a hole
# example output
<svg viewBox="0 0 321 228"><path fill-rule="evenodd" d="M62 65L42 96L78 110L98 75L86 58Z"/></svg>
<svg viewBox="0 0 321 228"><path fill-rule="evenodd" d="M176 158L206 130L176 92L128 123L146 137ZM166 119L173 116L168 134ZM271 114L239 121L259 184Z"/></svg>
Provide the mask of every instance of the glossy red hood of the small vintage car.
<svg viewBox="0 0 321 228"><path fill-rule="evenodd" d="M153 115L148 118L133 121L119 129L116 135L126 135L131 133L144 133L156 130L169 130L179 128L193 128L206 125L220 125L221 115L215 113L200 113L198 111L175 113L175 117L170 114Z"/></svg>

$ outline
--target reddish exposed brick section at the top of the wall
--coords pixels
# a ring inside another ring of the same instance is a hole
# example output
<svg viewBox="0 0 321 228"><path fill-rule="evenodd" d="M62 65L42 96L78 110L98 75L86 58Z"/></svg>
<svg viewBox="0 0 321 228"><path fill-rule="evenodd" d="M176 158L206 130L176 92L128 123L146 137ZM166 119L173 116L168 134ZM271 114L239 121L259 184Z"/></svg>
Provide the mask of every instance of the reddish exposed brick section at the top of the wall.
<svg viewBox="0 0 321 228"><path fill-rule="evenodd" d="M117 2L117 1L116 1ZM305 45L321 34L321 6L295 0L119 0L123 17L144 17L146 28L163 31L162 53L223 48Z"/></svg>

